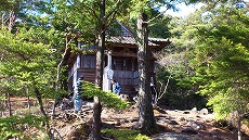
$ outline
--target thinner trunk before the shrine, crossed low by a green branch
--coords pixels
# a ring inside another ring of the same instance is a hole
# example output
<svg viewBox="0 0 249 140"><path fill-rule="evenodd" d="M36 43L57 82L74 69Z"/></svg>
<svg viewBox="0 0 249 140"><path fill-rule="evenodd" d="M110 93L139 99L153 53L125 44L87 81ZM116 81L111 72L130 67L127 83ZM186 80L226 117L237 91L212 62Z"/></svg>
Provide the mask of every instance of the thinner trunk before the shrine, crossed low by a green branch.
<svg viewBox="0 0 249 140"><path fill-rule="evenodd" d="M97 52L96 52L96 77L95 85L102 89L103 84L103 60L104 60L104 49L105 49L105 24L103 18L105 16L105 0L100 0L100 30L97 36ZM102 105L99 97L94 97L93 106L93 124L90 139L101 140L101 112Z"/></svg>

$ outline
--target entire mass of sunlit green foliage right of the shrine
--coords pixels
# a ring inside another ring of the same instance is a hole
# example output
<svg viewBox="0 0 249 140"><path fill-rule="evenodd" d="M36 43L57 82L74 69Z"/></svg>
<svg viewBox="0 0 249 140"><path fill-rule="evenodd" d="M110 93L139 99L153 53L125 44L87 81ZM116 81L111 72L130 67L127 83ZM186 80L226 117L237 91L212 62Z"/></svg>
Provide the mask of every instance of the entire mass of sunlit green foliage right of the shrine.
<svg viewBox="0 0 249 140"><path fill-rule="evenodd" d="M172 96L185 92L180 97L199 90L198 93L209 99L207 105L213 107L218 119L234 111L248 112L246 38L249 36L249 22L245 13L231 8L231 4L223 4L208 13L197 11L186 20L172 21L173 46L163 52L168 74L160 72L162 75L158 75L165 82L172 75L166 100L170 98L170 90L174 90ZM173 90L172 84L178 85ZM184 98L183 101L186 100Z"/></svg>

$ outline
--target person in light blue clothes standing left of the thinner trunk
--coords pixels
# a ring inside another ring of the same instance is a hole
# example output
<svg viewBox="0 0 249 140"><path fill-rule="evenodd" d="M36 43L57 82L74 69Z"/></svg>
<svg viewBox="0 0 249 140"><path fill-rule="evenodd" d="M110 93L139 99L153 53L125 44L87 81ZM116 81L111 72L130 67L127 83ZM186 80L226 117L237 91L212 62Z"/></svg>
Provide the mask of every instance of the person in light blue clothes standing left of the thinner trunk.
<svg viewBox="0 0 249 140"><path fill-rule="evenodd" d="M79 77L79 79L77 80L76 87L75 87L75 93L74 93L74 106L75 106L75 112L78 113L79 111L81 111L82 107L82 82L83 80L83 76Z"/></svg>

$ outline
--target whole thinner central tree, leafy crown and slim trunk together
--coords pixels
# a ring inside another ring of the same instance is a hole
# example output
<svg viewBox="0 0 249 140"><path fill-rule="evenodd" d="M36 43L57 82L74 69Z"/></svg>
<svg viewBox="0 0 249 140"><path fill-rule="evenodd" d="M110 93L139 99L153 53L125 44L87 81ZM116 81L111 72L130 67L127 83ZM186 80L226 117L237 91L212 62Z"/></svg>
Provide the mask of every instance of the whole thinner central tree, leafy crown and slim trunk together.
<svg viewBox="0 0 249 140"><path fill-rule="evenodd" d="M103 61L105 49L105 30L122 13L126 13L128 0L73 0L57 1L55 20L63 20L64 25L82 31L78 38L84 42L94 41L97 44L95 85L102 88ZM126 5L126 7L124 7ZM84 14L82 14L84 13ZM101 139L101 99L94 97L93 125L91 139Z"/></svg>

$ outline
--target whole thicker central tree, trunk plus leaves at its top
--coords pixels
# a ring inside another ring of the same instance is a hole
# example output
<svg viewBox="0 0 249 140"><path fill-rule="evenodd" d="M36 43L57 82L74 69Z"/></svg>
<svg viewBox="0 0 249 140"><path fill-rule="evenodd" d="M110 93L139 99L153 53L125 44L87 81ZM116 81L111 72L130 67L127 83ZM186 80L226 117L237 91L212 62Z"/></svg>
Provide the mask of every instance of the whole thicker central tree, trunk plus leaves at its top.
<svg viewBox="0 0 249 140"><path fill-rule="evenodd" d="M148 14L155 5L171 5L171 1L132 1L134 9L132 10L132 16L137 17L136 34L137 34L137 62L139 62L139 122L136 127L146 132L155 131L156 122L154 117L152 106L152 93L149 90L149 65L148 58L150 56L150 50L148 48L148 24L152 23L158 16L148 20Z"/></svg>

